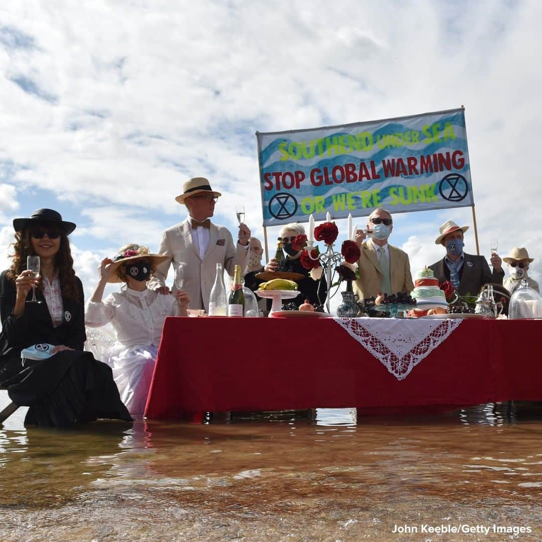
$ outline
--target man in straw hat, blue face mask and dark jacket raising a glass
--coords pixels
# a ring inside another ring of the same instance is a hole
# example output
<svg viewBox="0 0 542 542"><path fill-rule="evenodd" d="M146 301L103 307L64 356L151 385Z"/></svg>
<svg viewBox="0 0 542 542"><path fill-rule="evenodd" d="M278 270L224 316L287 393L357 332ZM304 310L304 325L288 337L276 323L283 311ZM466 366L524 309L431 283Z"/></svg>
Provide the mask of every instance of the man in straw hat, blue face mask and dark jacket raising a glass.
<svg viewBox="0 0 542 542"><path fill-rule="evenodd" d="M435 278L442 284L449 280L459 295L478 295L482 286L488 282L502 284L505 272L501 269L501 259L498 254L491 255L493 272L484 256L474 256L463 252L463 233L468 226L458 226L453 220L448 220L440 227L440 235L435 244L446 248L446 256L429 266L433 269Z"/></svg>

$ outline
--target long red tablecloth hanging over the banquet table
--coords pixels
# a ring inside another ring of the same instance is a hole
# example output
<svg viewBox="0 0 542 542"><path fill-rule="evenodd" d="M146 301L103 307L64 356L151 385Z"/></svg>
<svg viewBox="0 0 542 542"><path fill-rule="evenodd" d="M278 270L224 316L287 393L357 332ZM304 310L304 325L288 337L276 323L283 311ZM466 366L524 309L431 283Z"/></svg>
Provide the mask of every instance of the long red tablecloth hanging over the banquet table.
<svg viewBox="0 0 542 542"><path fill-rule="evenodd" d="M331 318L166 318L145 416L540 401L541 332L464 320L397 380Z"/></svg>

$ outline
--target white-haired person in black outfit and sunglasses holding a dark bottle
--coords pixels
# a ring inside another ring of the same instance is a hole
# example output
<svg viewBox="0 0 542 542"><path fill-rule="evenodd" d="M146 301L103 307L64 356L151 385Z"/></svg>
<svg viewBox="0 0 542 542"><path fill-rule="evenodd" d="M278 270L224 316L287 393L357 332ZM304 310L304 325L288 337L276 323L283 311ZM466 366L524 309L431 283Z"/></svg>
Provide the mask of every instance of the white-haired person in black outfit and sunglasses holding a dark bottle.
<svg viewBox="0 0 542 542"><path fill-rule="evenodd" d="M309 275L311 270L305 269L301 265L299 259L301 251L296 251L292 248L292 242L298 235L305 235L305 228L297 223L286 224L282 227L279 234L279 241L282 242L282 250L285 255L281 271L285 273L299 273L305 276L304 279L295 281L298 283L298 290L301 293L295 299L283 300L283 305L293 302L299 308L306 299L309 300L311 305L324 305L327 295L326 280L324 277L321 280L313 280L311 275ZM256 290L263 281L256 279L254 275L262 271L275 272L277 267L278 262L275 258L272 258L262 269L247 273L245 275L245 285L252 290Z"/></svg>

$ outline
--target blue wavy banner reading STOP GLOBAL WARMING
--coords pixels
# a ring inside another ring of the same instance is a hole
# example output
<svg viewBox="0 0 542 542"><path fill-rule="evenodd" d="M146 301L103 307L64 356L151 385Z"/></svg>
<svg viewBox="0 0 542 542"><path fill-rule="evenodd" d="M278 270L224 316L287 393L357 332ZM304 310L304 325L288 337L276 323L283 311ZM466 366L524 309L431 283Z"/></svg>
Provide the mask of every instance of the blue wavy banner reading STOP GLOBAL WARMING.
<svg viewBox="0 0 542 542"><path fill-rule="evenodd" d="M263 224L473 205L463 110L397 120L258 133Z"/></svg>

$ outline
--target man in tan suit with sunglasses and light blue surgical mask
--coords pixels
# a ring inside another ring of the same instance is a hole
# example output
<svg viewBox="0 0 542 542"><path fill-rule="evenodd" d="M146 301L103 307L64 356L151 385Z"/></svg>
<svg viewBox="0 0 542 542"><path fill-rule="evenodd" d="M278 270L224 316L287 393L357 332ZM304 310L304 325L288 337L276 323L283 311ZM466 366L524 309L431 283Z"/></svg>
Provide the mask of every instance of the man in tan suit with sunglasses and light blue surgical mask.
<svg viewBox="0 0 542 542"><path fill-rule="evenodd" d="M378 208L367 220L370 238L366 240L363 230L356 231L355 240L361 255L358 261L360 279L356 281L354 291L360 299L414 289L408 255L388 244L392 229L390 213Z"/></svg>

